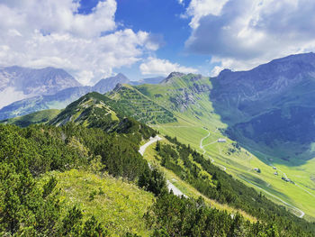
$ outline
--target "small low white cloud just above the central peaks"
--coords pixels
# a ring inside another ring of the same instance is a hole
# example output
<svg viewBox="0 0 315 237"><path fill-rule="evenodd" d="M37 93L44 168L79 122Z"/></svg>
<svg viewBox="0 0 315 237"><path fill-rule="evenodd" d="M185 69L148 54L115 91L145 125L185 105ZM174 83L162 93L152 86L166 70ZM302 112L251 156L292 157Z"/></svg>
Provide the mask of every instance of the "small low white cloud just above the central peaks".
<svg viewBox="0 0 315 237"><path fill-rule="evenodd" d="M143 75L168 75L173 71L183 73L196 73L195 68L186 68L178 63L172 63L167 59L157 59L149 57L145 62L141 63L139 69Z"/></svg>

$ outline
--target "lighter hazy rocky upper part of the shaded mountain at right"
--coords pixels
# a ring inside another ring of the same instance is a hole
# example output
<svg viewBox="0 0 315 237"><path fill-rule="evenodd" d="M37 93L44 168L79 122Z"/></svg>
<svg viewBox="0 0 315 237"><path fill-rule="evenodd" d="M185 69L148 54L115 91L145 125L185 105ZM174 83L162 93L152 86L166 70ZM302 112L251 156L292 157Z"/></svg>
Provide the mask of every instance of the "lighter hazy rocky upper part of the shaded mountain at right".
<svg viewBox="0 0 315 237"><path fill-rule="evenodd" d="M315 54L292 55L248 71L221 71L213 79L211 100L229 104L235 116L227 114L223 119L237 123L266 109L288 104L312 105L310 96L313 97L313 93L306 93L313 90L314 82Z"/></svg>

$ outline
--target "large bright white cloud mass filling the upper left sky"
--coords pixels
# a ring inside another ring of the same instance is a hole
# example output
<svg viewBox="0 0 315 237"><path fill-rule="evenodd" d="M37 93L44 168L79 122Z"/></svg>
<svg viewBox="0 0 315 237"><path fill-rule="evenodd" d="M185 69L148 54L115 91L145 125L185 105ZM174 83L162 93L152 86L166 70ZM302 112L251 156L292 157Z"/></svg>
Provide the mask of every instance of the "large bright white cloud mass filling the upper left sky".
<svg viewBox="0 0 315 237"><path fill-rule="evenodd" d="M117 30L115 0L100 1L90 14L78 14L79 6L72 0L2 0L0 65L65 68L90 84L157 50L148 32Z"/></svg>

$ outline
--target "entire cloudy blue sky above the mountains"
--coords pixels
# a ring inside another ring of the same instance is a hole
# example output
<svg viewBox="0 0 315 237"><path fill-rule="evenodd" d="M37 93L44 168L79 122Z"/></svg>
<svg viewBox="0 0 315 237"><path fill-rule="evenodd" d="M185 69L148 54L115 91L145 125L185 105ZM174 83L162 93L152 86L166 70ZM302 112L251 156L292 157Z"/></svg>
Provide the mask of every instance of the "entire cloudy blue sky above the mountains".
<svg viewBox="0 0 315 237"><path fill-rule="evenodd" d="M214 77L315 51L313 0L0 0L0 66Z"/></svg>

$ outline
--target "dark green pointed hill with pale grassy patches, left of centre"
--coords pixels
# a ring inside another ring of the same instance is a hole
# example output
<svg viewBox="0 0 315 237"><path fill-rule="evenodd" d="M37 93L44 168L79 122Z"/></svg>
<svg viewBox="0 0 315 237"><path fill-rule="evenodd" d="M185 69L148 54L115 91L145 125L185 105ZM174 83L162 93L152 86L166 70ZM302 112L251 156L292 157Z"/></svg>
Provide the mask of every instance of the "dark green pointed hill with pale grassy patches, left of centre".
<svg viewBox="0 0 315 237"><path fill-rule="evenodd" d="M101 128L105 132L124 134L136 143L155 136L153 129L124 114L121 105L107 96L93 92L68 105L49 124L61 126L75 123L88 128Z"/></svg>

